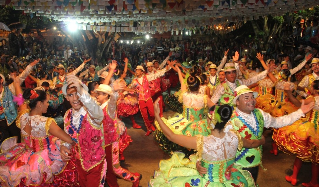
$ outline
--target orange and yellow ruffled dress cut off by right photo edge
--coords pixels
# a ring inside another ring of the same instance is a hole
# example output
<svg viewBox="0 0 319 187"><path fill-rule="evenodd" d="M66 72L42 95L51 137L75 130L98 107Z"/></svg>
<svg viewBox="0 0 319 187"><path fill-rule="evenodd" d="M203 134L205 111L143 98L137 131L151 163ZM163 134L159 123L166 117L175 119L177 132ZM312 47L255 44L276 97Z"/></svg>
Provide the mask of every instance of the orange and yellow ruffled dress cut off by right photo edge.
<svg viewBox="0 0 319 187"><path fill-rule="evenodd" d="M312 96L310 96L312 97ZM319 163L319 97L313 97L315 107L292 125L274 131L273 139L279 149L302 161Z"/></svg>

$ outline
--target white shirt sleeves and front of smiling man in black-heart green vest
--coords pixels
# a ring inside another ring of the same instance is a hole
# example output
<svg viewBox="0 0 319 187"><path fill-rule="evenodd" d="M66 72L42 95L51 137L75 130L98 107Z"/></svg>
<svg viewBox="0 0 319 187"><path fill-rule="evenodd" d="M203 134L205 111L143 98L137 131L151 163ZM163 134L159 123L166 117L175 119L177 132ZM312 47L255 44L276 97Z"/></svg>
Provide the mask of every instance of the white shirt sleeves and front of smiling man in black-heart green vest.
<svg viewBox="0 0 319 187"><path fill-rule="evenodd" d="M263 126L266 128L280 128L287 125L293 124L293 122L297 121L301 116L305 116L302 113L302 110L299 108L297 111L280 117L273 117L269 113L264 112L262 109L257 108L263 115ZM253 112L250 114L246 114L236 107L235 111L238 115L240 115L254 130L257 130L257 125L255 121L255 117ZM234 124L233 124L234 125Z"/></svg>

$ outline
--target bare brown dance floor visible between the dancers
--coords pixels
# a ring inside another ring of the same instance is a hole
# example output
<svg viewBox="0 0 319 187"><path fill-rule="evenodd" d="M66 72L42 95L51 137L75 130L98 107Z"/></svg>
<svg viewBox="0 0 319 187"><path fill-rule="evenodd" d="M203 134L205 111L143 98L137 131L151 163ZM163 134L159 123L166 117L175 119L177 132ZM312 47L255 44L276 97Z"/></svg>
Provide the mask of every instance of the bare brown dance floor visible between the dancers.
<svg viewBox="0 0 319 187"><path fill-rule="evenodd" d="M174 112L167 110L164 117L172 116ZM140 181L140 186L147 187L149 179L153 176L154 170L158 169L159 160L168 159L169 156L164 153L155 142L153 133L145 137L146 128L143 125L142 116L138 113L135 115L135 120L142 126L142 129L133 129L132 123L128 118L124 118L128 134L132 137L133 142L124 151L125 162L121 163L123 168L129 169L131 172L139 172L143 175ZM291 175L293 172L293 162L295 157L289 156L286 153L278 152L275 156L269 151L271 150L271 135L270 130L264 131L263 135L266 138L266 143L263 145L263 166L267 169L264 171L259 167L259 175L257 183L260 187L289 187L292 186L286 182L285 175ZM298 175L298 187L302 187L301 183L309 182L311 178L311 163L304 163ZM130 187L132 183L118 179L121 187Z"/></svg>

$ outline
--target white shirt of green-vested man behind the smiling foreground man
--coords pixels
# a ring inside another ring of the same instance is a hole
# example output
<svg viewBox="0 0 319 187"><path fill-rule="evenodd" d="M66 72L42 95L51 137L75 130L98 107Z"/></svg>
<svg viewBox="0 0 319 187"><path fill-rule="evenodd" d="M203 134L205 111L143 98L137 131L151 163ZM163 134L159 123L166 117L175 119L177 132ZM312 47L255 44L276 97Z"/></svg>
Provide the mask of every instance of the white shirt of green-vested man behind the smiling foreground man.
<svg viewBox="0 0 319 187"><path fill-rule="evenodd" d="M265 70L265 71L259 73L258 75L251 77L249 79L236 79L234 83L231 83L226 79L226 82L229 85L230 89L232 89L233 92L235 92L235 89L237 88L237 85L236 85L237 80L238 80L240 85L249 86L249 85L252 85L252 84L258 82L259 80L265 78L267 75L267 72L268 71ZM222 84L220 84L216 87L215 92L211 96L211 101L216 104L223 94L225 94L225 89L224 89L224 86Z"/></svg>

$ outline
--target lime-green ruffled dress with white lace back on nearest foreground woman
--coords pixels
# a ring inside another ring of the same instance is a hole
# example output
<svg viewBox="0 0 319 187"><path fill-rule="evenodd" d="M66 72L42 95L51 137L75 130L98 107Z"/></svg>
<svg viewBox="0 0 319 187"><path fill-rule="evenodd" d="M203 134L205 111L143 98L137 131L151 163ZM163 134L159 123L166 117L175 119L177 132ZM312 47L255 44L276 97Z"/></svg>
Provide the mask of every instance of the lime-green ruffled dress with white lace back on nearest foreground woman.
<svg viewBox="0 0 319 187"><path fill-rule="evenodd" d="M239 139L240 138L240 139ZM174 152L172 157L159 162L159 170L154 172L154 179L149 181L152 187L251 187L256 186L248 171L234 164L236 150L243 143L238 132L231 130L224 138L212 135L197 137L197 155L189 159L185 154ZM227 155L225 158L224 155ZM196 162L201 159L201 165L207 169L204 177L196 169Z"/></svg>

